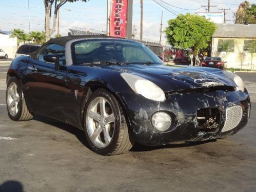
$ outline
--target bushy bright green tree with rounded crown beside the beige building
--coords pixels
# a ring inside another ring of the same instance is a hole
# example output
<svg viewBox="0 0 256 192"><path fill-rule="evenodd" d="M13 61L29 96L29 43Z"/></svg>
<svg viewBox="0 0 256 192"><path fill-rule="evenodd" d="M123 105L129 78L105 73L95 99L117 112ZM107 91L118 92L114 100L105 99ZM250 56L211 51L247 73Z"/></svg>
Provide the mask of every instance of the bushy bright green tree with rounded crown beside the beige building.
<svg viewBox="0 0 256 192"><path fill-rule="evenodd" d="M188 13L170 19L165 33L170 45L180 49L191 48L196 63L199 64L198 53L209 46L215 30L216 25L203 16Z"/></svg>

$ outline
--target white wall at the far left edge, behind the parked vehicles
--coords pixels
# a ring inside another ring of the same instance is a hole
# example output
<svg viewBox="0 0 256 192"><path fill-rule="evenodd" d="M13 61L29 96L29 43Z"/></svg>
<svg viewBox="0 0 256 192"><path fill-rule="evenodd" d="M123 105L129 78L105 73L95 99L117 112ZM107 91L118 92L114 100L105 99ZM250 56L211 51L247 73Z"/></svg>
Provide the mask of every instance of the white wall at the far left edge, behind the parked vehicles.
<svg viewBox="0 0 256 192"><path fill-rule="evenodd" d="M9 58L14 58L17 51L17 37L10 38L10 35L0 34L0 49L3 49Z"/></svg>

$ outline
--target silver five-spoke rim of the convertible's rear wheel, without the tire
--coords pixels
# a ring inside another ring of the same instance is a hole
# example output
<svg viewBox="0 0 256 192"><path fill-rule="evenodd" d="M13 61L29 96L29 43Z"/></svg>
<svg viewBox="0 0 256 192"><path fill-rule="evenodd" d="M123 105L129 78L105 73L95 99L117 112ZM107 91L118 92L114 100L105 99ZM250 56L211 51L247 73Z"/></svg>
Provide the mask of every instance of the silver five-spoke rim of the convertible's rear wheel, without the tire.
<svg viewBox="0 0 256 192"><path fill-rule="evenodd" d="M15 82L11 82L9 84L9 87L7 88L7 98L6 103L8 107L8 111L11 114L11 116L16 116L18 113L18 103L20 101L17 85Z"/></svg>

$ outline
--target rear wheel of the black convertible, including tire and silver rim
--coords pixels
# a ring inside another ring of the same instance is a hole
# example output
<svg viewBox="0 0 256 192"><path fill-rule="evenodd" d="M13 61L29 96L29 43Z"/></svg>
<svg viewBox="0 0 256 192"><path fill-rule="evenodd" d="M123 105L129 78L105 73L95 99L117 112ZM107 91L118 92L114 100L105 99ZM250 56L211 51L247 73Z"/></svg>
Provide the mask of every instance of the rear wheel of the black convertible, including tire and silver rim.
<svg viewBox="0 0 256 192"><path fill-rule="evenodd" d="M28 111L21 84L16 77L10 77L7 81L6 105L8 116L14 121L26 121L33 118Z"/></svg>

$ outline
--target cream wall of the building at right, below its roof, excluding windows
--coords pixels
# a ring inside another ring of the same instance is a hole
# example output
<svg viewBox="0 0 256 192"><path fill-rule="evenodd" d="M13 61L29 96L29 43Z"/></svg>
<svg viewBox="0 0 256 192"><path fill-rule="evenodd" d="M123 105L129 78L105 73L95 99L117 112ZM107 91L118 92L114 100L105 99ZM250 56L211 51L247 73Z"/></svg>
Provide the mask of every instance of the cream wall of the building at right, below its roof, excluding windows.
<svg viewBox="0 0 256 192"><path fill-rule="evenodd" d="M226 56L222 56L218 52L218 40L219 39L234 39L234 52L227 52ZM256 53L244 51L244 40L256 40L256 39L244 39L244 38L213 38L212 39L212 56L221 57L223 61L227 61L227 68L239 68L239 69L254 69L256 70ZM245 53L244 59L242 59L242 53ZM252 58L252 60L251 60Z"/></svg>

